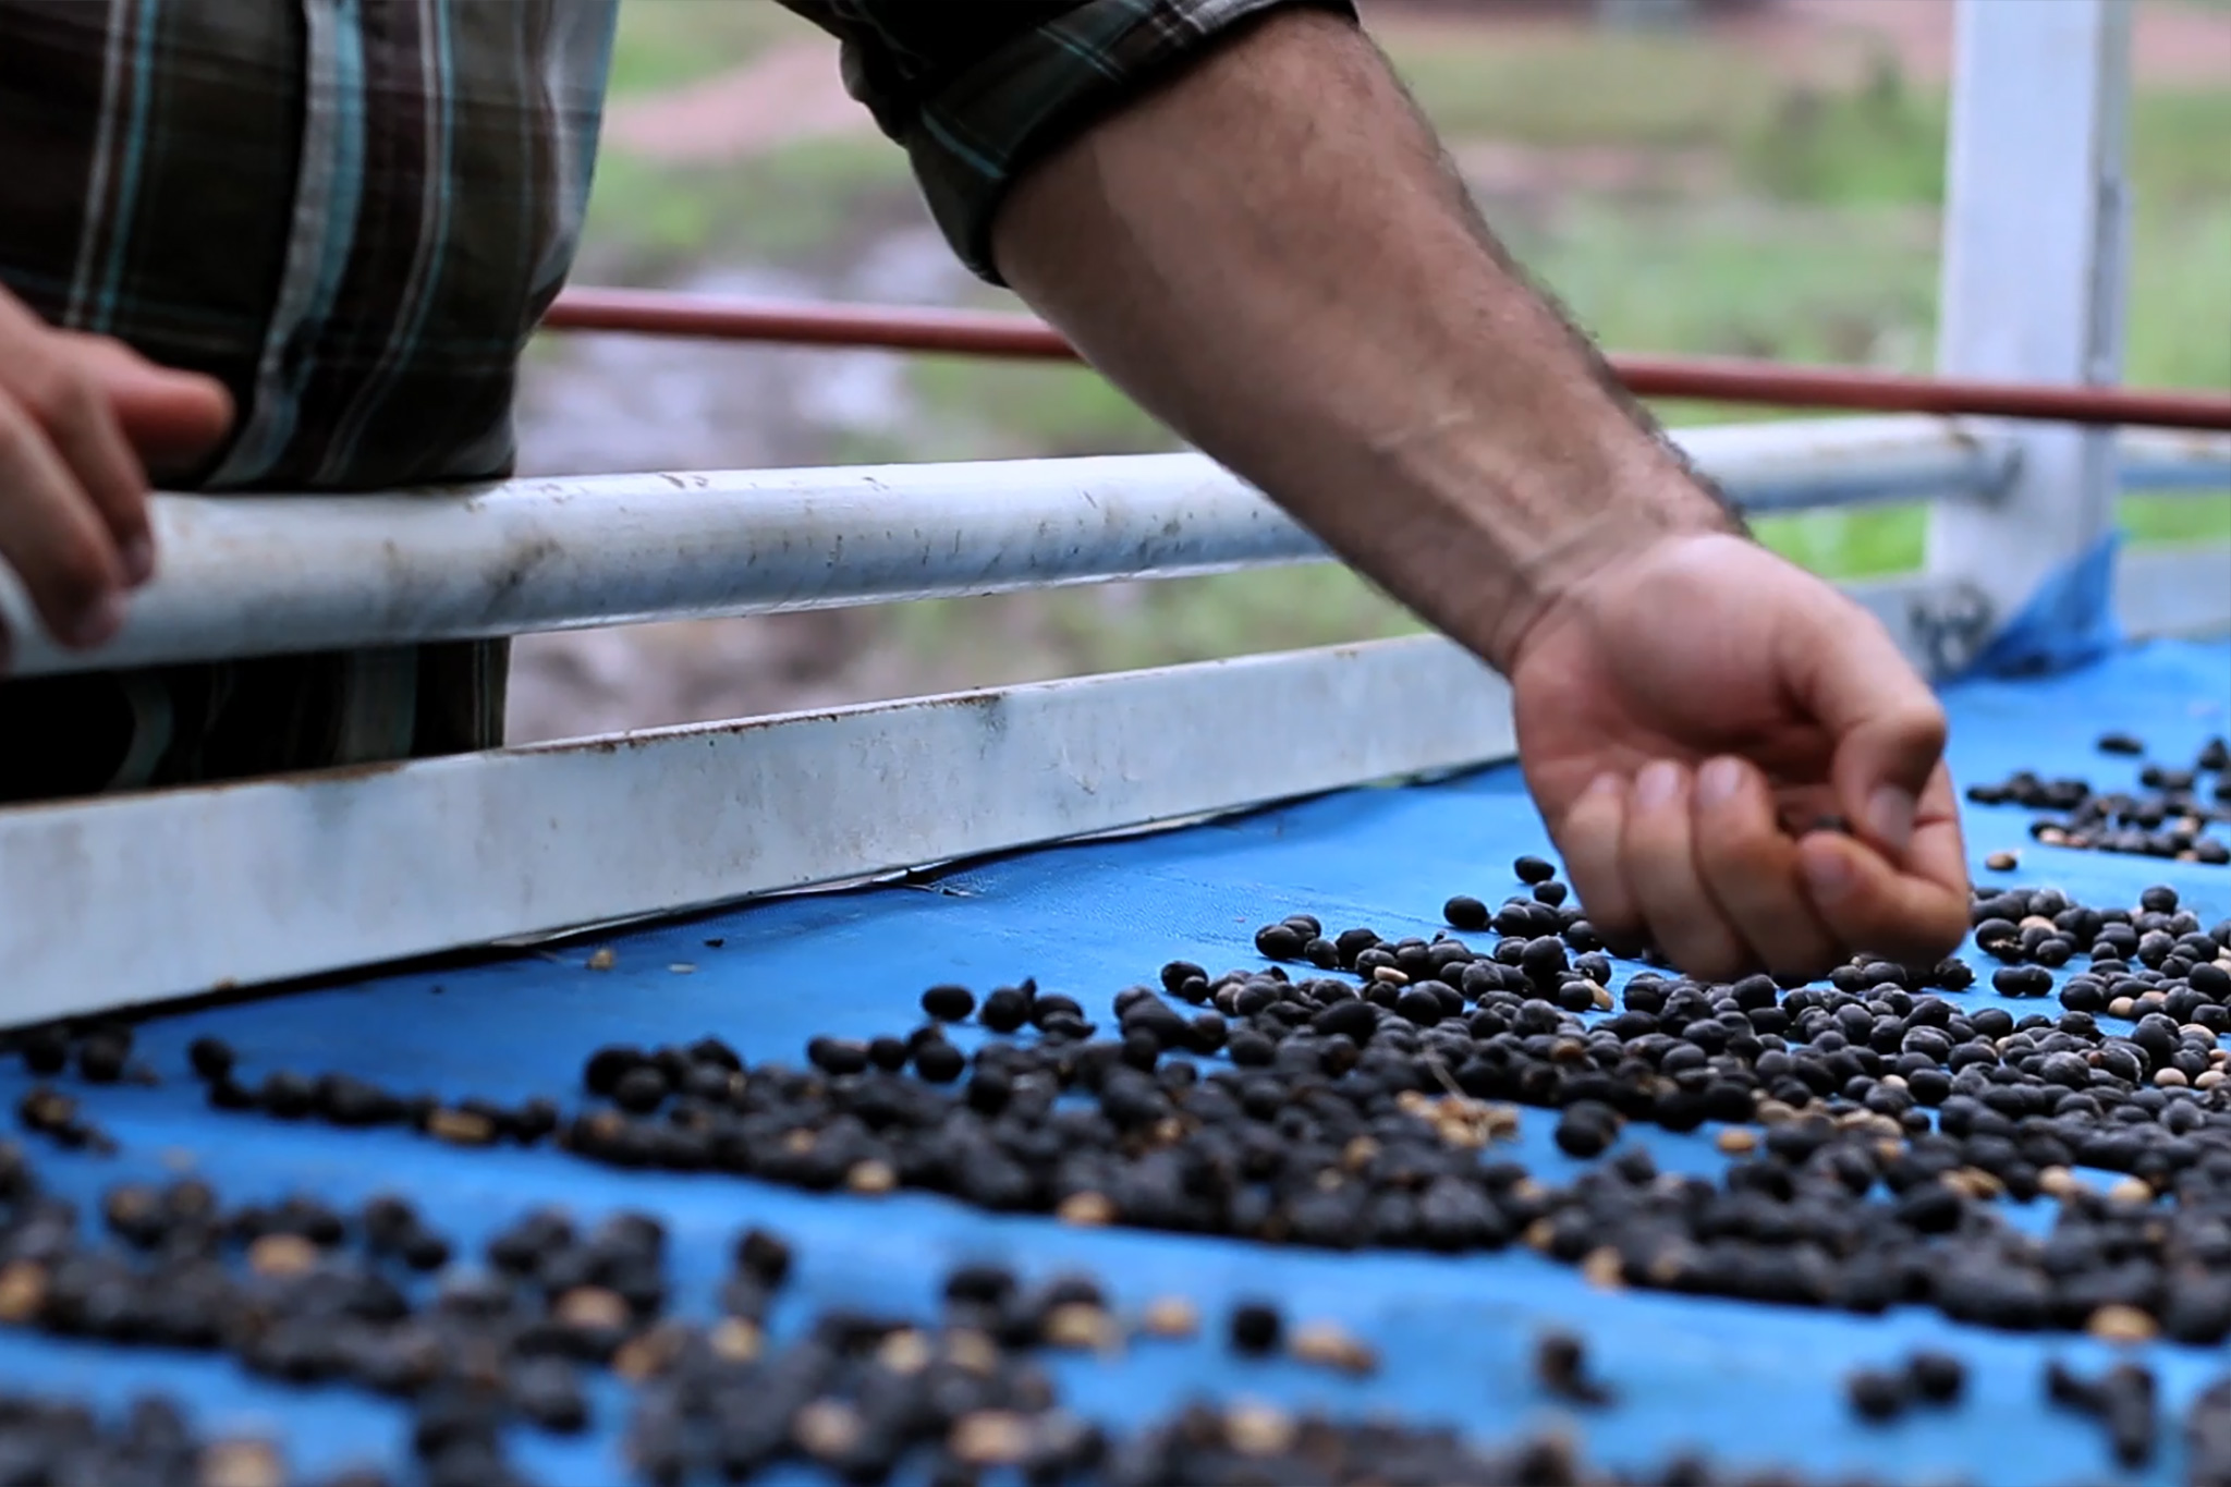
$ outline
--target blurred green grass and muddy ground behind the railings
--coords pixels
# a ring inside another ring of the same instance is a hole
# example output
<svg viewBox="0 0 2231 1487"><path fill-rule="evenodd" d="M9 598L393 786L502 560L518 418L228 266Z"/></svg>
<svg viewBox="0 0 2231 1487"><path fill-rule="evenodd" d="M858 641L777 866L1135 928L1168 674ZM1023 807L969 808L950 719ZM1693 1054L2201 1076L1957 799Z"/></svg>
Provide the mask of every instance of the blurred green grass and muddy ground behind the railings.
<svg viewBox="0 0 2231 1487"><path fill-rule="evenodd" d="M2050 4L2053 0L1997 0ZM1925 372L1952 0L1363 0L1488 221L1606 348ZM2231 0L2137 0L2126 379L2231 388ZM837 49L772 0L622 0L576 283L1020 308L937 236ZM1669 424L1760 417L1664 404ZM542 337L522 473L1174 448L1080 368ZM2135 542L2231 495L2128 499ZM1834 577L1921 562L1919 511L1760 535ZM1205 660L1419 629L1354 575L654 624L515 644L511 736Z"/></svg>

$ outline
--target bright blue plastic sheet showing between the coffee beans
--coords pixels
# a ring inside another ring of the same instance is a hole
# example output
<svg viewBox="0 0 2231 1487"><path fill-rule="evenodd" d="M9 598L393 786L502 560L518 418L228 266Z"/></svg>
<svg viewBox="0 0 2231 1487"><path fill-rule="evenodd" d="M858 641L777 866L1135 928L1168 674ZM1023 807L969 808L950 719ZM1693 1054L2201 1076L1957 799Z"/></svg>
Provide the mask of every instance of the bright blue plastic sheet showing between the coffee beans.
<svg viewBox="0 0 2231 1487"><path fill-rule="evenodd" d="M2137 762L2093 754L2093 738L2131 729L2160 758L2189 760L2209 733L2227 729L2231 644L2153 644L2048 680L1966 682L1950 691L1950 709L1952 760L1963 780L2032 767L2128 785ZM1981 876L2057 883L2095 903L2133 903L2140 887L2166 878L2202 921L2231 914L2231 869L2037 847L2026 825L2019 809L1970 809L1979 872L1992 849L2021 852L2019 872ZM2102 1431L2041 1402L2048 1355L2082 1367L2106 1362L2086 1340L1999 1335L1912 1309L1861 1320L1606 1295L1526 1251L1330 1255L1075 1231L1037 1217L988 1217L928 1195L817 1197L725 1175L620 1173L551 1148L464 1153L399 1130L344 1133L212 1112L185 1077L187 1041L210 1032L239 1048L248 1077L272 1068L346 1070L444 1097L571 1095L582 1057L607 1041L716 1032L750 1061L796 1063L817 1032L912 1028L915 999L930 983L991 988L1026 974L1104 1014L1120 988L1151 981L1171 956L1211 970L1258 963L1254 927L1296 910L1336 927L1430 934L1448 894L1499 898L1517 887L1510 858L1546 847L1515 769L1504 767L1437 785L1345 791L1160 836L1017 854L966 865L926 887L799 896L660 923L609 941L616 965L605 972L585 965L585 947L569 947L199 1008L141 1030L141 1052L161 1070L161 1088L83 1090L89 1115L120 1141L118 1155L40 1150L38 1164L89 1208L114 1182L172 1177L185 1155L228 1202L317 1193L355 1204L408 1188L466 1255L531 1204L562 1202L585 1219L645 1208L672 1228L678 1309L694 1315L712 1311L727 1240L745 1224L770 1224L801 1253L776 1329L839 1300L928 1315L941 1271L959 1260L1006 1260L1031 1275L1084 1266L1122 1304L1160 1293L1194 1298L1209 1320L1205 1340L1145 1342L1118 1362L1057 1369L1078 1407L1118 1425L1142 1422L1194 1393L1245 1393L1508 1433L1553 1413L1524 1358L1535 1329L1557 1322L1588 1338L1597 1371L1622 1396L1582 1425L1597 1460L1642 1465L1693 1445L1733 1462L1816 1474L1865 1467L1896 1480L1995 1487L2119 1480ZM1986 990L1968 1001L1997 997ZM2008 1005L2017 1014L2039 1010ZM964 1030L957 1041L970 1037ZM16 1061L0 1070L0 1097L13 1101L27 1083ZM1577 1164L1551 1144L1553 1124L1553 1112L1526 1112L1513 1155L1562 1179ZM1722 1166L1711 1135L1631 1128L1660 1166L1693 1173ZM2048 1215L2039 1204L2021 1222L2044 1224ZM1245 1295L1276 1298L1292 1318L1348 1324L1379 1347L1385 1367L1345 1380L1292 1362L1229 1358L1216 1324ZM1894 1427L1856 1425L1843 1405L1843 1373L1923 1342L1968 1360L1972 1402ZM2164 1344L2144 1355L2162 1376L2169 1409L2182 1409L2231 1364L2211 1349ZM348 1389L292 1389L252 1380L230 1360L22 1333L0 1333L0 1384L116 1402L165 1387L210 1429L283 1422L292 1460L312 1471L364 1458L399 1462L406 1431L399 1407ZM616 1384L600 1387L589 1438L520 1431L518 1460L547 1483L625 1480L616 1445L625 1398ZM2177 1451L2166 1449L2142 1480L2180 1480Z"/></svg>

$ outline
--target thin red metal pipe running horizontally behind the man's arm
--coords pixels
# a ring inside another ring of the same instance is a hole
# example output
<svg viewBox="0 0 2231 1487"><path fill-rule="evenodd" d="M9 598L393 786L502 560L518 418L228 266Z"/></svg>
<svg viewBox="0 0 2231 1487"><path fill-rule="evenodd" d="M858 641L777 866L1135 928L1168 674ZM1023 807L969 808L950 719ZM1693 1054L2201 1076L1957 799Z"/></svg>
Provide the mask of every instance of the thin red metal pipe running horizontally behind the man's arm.
<svg viewBox="0 0 2231 1487"><path fill-rule="evenodd" d="M1028 314L712 299L656 290L567 290L542 317L542 328L1040 361L1078 359L1075 348L1057 330ZM2204 392L1945 381L1722 357L1613 354L1611 368L1638 397L2231 430L2231 397Z"/></svg>

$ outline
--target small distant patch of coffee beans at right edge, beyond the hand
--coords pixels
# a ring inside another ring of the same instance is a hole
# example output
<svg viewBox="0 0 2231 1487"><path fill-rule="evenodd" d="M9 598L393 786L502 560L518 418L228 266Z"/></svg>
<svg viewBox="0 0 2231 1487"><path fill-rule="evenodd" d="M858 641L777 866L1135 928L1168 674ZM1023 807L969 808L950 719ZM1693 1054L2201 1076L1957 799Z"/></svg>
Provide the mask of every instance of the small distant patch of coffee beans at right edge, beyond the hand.
<svg viewBox="0 0 2231 1487"><path fill-rule="evenodd" d="M2140 756L2146 745L2128 733L2104 733L2099 751ZM1970 785L1968 800L2044 811L2030 823L2030 836L2048 847L2231 863L2231 843L2215 834L2220 823L2231 820L2231 745L2222 738L2202 745L2191 765L2146 765L2135 791L2095 789L2077 776L2048 780L2021 769L1997 783Z"/></svg>

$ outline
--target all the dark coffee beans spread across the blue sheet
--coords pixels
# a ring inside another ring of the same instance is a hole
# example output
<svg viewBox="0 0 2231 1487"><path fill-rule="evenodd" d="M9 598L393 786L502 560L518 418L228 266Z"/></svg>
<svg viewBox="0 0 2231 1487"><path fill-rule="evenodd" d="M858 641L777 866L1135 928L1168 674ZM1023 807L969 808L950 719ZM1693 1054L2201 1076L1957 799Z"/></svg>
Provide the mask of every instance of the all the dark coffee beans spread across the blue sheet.
<svg viewBox="0 0 2231 1487"><path fill-rule="evenodd" d="M2191 798L2189 780L2160 778ZM1028 979L982 997L935 985L919 1026L817 1037L801 1063L747 1063L718 1037L609 1046L576 1090L527 1101L339 1072L250 1077L216 1039L199 1039L190 1063L219 1110L404 1126L462 1148L549 1144L618 1168L928 1190L1075 1226L1319 1248L1519 1244L1606 1289L1854 1313L1925 1304L2126 1344L2231 1338L2231 1059L2218 1037L2231 1030L2231 921L2202 925L2166 885L2128 907L1979 890L1970 923L1990 990L2039 1008L2017 1014L1972 1001L1977 972L1959 959L1861 959L1803 985L1655 970L1620 981L1551 863L1519 858L1513 876L1524 892L1501 903L1452 896L1432 939L1287 914L1254 936L1267 963L1171 961L1104 1014ZM42 1079L149 1077L129 1030L13 1046ZM1528 1108L1553 1112L1575 1177L1508 1155ZM27 1092L18 1117L62 1146L105 1139L56 1083ZM1729 1157L1709 1179L1660 1173L1626 1139L1707 1124ZM2055 1202L2048 1233L2008 1222L2006 1204L2037 1199ZM112 1240L87 1244L69 1204L0 1146L0 1324L219 1349L274 1378L408 1398L428 1483L513 1480L502 1431L589 1429L582 1373L602 1369L645 1389L629 1449L647 1480L796 1460L852 1480L901 1460L928 1462L930 1480L1004 1467L1033 1480L1285 1480L1294 1462L1310 1480L1365 1480L1374 1451L1419 1462L1423 1480L1613 1480L1555 1442L1475 1454L1455 1436L1267 1407L1203 1405L1113 1440L1060 1409L1033 1355L1194 1335L1200 1318L1178 1298L1118 1318L1084 1277L973 1269L950 1277L935 1324L830 1313L774 1347L767 1313L792 1260L763 1231L738 1240L718 1320L689 1324L669 1315L665 1235L647 1215L580 1231L556 1208L531 1213L491 1240L486 1266L464 1269L393 1197L359 1213L310 1199L234 1211L192 1179L127 1184L103 1204ZM417 1295L428 1273L440 1282ZM1379 1367L1368 1342L1261 1300L1232 1306L1223 1329L1247 1358ZM1615 1402L1568 1333L1539 1340L1535 1373L1566 1405ZM1957 1402L1963 1378L1923 1353L1854 1373L1847 1400L1890 1422ZM2102 1420L2124 1460L2155 1449L2144 1369L2053 1369L2046 1391ZM2209 1400L2186 1433L2222 1438L2215 1456L2195 1445L2195 1462L2231 1478L2231 1405Z"/></svg>

